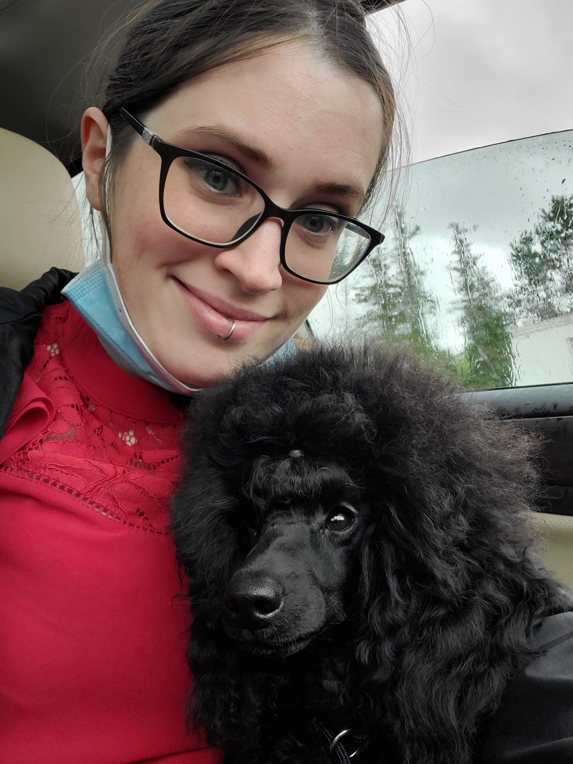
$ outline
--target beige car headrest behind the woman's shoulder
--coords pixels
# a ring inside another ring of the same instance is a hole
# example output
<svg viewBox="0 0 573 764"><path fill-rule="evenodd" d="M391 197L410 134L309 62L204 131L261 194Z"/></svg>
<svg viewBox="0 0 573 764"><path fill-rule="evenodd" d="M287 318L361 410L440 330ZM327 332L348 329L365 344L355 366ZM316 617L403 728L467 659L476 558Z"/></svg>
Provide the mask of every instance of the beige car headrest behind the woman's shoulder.
<svg viewBox="0 0 573 764"><path fill-rule="evenodd" d="M50 151L0 128L0 286L21 289L52 266L82 270L70 175Z"/></svg>

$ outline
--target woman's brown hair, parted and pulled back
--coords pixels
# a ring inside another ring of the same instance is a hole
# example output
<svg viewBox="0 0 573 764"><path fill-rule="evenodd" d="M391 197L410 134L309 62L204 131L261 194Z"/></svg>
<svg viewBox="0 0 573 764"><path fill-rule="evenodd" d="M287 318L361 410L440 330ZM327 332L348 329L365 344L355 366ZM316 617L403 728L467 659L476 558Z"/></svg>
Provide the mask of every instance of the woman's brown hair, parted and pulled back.
<svg viewBox="0 0 573 764"><path fill-rule="evenodd" d="M123 106L144 121L145 115L188 79L238 60L252 57L285 40L309 40L329 60L377 92L384 114L383 151L368 188L371 199L380 175L390 179L389 202L396 174L385 172L393 144L396 102L390 76L366 28L366 17L354 0L151 0L113 31L97 51L92 68L110 60L109 47L118 46L115 63L100 86L102 112L112 130L112 150L105 167L108 183L136 135L118 114ZM93 102L93 101L92 101ZM396 153L396 152L394 152ZM100 183L106 210L105 183ZM388 208L386 205L386 209ZM105 225L109 222L104 212Z"/></svg>

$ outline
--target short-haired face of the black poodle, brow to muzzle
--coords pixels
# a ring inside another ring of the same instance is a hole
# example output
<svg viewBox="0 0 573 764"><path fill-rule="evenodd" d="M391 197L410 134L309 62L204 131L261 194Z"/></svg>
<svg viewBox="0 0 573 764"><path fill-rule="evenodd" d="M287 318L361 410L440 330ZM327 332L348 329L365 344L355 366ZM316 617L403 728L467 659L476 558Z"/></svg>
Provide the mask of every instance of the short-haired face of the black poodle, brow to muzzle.
<svg viewBox="0 0 573 764"><path fill-rule="evenodd" d="M261 457L249 483L248 553L225 589L223 623L244 649L286 657L351 612L367 510L344 469L301 449Z"/></svg>

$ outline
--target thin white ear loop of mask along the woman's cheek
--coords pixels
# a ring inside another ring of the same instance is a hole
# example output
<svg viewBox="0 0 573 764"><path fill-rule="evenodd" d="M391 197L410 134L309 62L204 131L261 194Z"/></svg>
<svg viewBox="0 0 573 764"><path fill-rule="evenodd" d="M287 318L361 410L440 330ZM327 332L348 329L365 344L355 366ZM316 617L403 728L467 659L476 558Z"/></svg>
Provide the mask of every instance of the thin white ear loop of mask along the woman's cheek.
<svg viewBox="0 0 573 764"><path fill-rule="evenodd" d="M109 189L110 189L108 173L107 173L107 163L108 163L108 156L109 156L109 152L111 148L112 148L112 128L110 125L108 125L108 135L105 141L105 162L104 162L106 203L109 198ZM163 365L160 364L159 361L157 361L157 358L155 358L154 354L147 347L146 342L141 337L138 330L135 329L134 323L131 321L131 318L128 314L128 309L125 307L123 297L121 296L118 279L115 275L115 268L113 267L113 264L112 264L112 247L109 241L108 230L105 227L105 222L103 219L103 215L101 213L99 215L99 232L100 232L100 240L101 240L101 250L100 250L99 256L102 258L102 263L104 265L104 271L105 271L105 279L108 282L109 292L112 295L112 300L115 306L115 310L118 314L118 318L121 321L121 325L123 326L125 331L128 333L129 338L134 343L134 345L138 348L138 351L144 357L145 361L147 361L147 363L151 366L151 368L157 371L157 374L160 374L160 376L163 377L163 379L166 380L166 382L168 382L171 387L173 387L178 393L181 393L183 395L189 395L189 393L198 393L203 388L193 387L192 385L186 384L185 382L178 380L176 377L173 377L173 374L170 374L170 372L167 371L167 369L163 367Z"/></svg>

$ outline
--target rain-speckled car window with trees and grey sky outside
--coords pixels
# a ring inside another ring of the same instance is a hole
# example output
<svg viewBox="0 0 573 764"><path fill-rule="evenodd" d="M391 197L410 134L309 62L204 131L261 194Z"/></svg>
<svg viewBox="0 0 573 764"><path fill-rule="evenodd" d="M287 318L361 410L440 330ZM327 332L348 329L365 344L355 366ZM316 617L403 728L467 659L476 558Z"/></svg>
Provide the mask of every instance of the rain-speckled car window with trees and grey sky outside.
<svg viewBox="0 0 573 764"><path fill-rule="evenodd" d="M468 388L571 381L572 145L562 131L413 165L386 241L313 331L407 342Z"/></svg>

